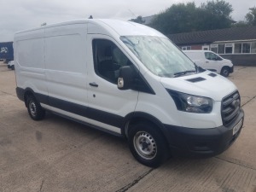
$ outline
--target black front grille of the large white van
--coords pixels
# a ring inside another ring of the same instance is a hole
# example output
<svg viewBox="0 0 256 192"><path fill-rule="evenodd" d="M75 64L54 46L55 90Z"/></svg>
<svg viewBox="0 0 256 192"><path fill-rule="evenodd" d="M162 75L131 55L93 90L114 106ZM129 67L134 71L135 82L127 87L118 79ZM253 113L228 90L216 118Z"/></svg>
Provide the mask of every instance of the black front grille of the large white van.
<svg viewBox="0 0 256 192"><path fill-rule="evenodd" d="M240 108L241 98L238 91L224 97L221 103L221 116L224 126L228 126L236 120Z"/></svg>

